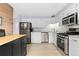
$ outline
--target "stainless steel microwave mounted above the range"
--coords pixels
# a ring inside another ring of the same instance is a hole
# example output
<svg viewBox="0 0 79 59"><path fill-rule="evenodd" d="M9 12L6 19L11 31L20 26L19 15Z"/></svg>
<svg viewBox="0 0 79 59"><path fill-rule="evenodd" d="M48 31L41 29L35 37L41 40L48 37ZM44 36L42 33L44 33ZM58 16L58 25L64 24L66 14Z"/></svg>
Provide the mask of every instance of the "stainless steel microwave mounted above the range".
<svg viewBox="0 0 79 59"><path fill-rule="evenodd" d="M62 25L75 25L78 24L78 13L75 12L62 19Z"/></svg>

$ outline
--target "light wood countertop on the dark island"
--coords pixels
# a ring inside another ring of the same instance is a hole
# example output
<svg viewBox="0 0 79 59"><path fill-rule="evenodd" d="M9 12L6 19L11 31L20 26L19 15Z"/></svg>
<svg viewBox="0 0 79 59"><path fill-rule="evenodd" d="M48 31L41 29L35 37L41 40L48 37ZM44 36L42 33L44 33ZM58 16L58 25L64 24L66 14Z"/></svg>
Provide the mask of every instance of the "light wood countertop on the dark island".
<svg viewBox="0 0 79 59"><path fill-rule="evenodd" d="M21 38L25 35L7 35L4 37L0 37L0 46L9 43L11 41L17 40L18 38Z"/></svg>

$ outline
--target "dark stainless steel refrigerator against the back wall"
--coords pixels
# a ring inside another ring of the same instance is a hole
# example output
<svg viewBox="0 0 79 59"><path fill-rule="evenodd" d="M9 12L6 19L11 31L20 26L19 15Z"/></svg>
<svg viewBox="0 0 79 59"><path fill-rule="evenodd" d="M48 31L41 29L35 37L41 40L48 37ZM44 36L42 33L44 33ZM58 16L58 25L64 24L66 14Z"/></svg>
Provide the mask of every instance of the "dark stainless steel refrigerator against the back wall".
<svg viewBox="0 0 79 59"><path fill-rule="evenodd" d="M32 23L30 22L20 22L19 23L19 33L26 35L26 43L31 43L31 31Z"/></svg>

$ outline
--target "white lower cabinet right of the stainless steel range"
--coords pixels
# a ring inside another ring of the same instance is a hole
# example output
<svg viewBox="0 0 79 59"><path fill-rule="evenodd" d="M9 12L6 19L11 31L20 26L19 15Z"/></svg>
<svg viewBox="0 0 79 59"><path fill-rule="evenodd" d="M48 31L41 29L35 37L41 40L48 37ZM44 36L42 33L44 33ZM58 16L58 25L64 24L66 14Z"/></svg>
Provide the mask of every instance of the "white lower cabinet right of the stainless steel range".
<svg viewBox="0 0 79 59"><path fill-rule="evenodd" d="M69 55L70 56L79 56L79 40L78 38L69 39Z"/></svg>

